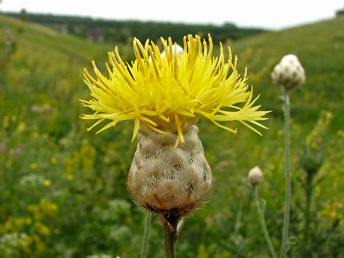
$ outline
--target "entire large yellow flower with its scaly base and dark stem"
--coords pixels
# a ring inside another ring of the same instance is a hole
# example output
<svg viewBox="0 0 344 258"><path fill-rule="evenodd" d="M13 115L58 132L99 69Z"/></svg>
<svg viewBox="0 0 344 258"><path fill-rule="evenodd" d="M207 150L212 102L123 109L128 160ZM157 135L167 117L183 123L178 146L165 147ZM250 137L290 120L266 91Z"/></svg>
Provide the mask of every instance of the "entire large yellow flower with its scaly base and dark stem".
<svg viewBox="0 0 344 258"><path fill-rule="evenodd" d="M97 78L86 69L85 83L93 99L82 100L95 111L83 119L111 120L98 132L133 120L132 141L138 145L128 175L128 189L137 204L154 212L165 229L167 258L175 257L175 240L182 222L204 204L212 189L212 173L204 157L195 125L205 116L215 125L236 132L219 122L238 120L250 126L266 128L257 121L265 120L267 111L253 106L252 90L236 71L237 57L226 61L222 44L220 56L212 57L213 43L199 36L184 37L184 48L177 48L171 38L161 38L164 52L149 40L144 45L133 41L136 60L124 63L116 47L109 53L112 69L103 76L94 62ZM208 49L209 46L209 49ZM232 70L231 73L229 71ZM238 103L244 103L237 107ZM227 107L227 110L221 108ZM261 134L260 134L261 135Z"/></svg>

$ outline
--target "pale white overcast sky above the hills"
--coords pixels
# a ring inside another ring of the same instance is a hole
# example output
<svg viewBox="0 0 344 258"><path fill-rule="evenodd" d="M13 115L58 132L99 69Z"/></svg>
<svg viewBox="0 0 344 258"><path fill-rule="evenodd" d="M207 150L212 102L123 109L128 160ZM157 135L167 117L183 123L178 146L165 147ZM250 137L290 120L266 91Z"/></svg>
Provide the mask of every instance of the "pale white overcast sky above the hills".
<svg viewBox="0 0 344 258"><path fill-rule="evenodd" d="M1 0L0 0L1 1ZM111 20L183 22L280 30L331 19L342 0L2 0L0 11L77 15ZM319 1L320 2L320 1Z"/></svg>

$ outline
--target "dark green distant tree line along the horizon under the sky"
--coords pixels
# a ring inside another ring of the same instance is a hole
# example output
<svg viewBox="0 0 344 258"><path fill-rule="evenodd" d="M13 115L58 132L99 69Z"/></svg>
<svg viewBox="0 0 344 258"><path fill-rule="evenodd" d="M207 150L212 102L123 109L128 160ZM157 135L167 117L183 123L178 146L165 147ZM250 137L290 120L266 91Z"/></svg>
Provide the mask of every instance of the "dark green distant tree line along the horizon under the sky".
<svg viewBox="0 0 344 258"><path fill-rule="evenodd" d="M20 17L20 13L5 13ZM89 17L57 16L52 14L27 13L26 19L59 30L85 37L91 41L123 42L132 40L135 36L140 41L157 40L171 37L178 44L183 44L183 36L198 34L207 37L210 33L214 42L225 42L228 39L236 40L241 37L260 33L264 30L256 28L240 29L234 24L225 23L222 26L196 25L167 22L140 22L92 19Z"/></svg>

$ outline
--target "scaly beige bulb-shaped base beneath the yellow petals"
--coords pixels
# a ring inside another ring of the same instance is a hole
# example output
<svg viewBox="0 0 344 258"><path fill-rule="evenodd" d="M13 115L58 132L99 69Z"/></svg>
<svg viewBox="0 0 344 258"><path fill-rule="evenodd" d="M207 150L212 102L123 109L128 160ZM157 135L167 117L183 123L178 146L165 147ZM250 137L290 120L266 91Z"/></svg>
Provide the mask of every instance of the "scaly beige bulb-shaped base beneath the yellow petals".
<svg viewBox="0 0 344 258"><path fill-rule="evenodd" d="M128 188L136 202L167 216L186 214L203 204L212 189L212 172L198 139L198 128L184 128L185 143L180 142L175 150L177 132L162 135L145 129L138 133L128 176Z"/></svg>

